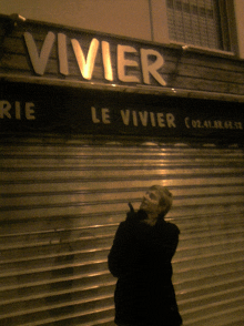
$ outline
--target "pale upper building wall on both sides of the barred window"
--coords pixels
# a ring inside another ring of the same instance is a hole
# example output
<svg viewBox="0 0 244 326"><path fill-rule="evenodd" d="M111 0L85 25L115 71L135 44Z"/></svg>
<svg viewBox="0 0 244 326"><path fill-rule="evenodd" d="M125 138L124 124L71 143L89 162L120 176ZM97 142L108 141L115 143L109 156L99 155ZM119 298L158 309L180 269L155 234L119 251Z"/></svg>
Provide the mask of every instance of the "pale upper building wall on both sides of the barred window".
<svg viewBox="0 0 244 326"><path fill-rule="evenodd" d="M233 0L233 3L238 42L236 52L244 58L244 1ZM169 42L166 0L1 0L0 13L19 13L32 20Z"/></svg>

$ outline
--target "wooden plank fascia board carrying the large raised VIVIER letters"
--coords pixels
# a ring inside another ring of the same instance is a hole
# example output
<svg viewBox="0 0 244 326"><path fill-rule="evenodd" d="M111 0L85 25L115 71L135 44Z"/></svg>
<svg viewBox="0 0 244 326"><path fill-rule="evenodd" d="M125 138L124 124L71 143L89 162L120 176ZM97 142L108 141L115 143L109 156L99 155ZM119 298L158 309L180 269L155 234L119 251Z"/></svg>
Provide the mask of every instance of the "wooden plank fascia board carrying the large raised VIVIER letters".
<svg viewBox="0 0 244 326"><path fill-rule="evenodd" d="M244 101L242 67L232 55L31 20L13 23L1 14L0 30L1 78Z"/></svg>

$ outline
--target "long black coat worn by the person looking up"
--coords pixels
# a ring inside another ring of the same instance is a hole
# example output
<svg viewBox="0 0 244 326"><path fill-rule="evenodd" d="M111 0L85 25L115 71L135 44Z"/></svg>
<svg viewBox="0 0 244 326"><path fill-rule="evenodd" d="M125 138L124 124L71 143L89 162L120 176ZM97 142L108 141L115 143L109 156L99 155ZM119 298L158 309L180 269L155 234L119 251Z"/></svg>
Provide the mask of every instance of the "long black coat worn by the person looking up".
<svg viewBox="0 0 244 326"><path fill-rule="evenodd" d="M109 269L118 277L115 323L179 326L182 324L172 285L171 259L180 231L159 216L154 226L146 213L129 213L116 231L109 254Z"/></svg>

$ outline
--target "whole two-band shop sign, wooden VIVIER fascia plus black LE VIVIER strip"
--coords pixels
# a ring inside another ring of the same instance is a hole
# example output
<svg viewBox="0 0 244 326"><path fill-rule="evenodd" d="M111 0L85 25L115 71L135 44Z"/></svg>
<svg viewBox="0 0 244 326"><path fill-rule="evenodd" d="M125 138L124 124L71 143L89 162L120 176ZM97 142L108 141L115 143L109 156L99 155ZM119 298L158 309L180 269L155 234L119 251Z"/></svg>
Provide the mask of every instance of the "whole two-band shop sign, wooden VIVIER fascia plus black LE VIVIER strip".
<svg viewBox="0 0 244 326"><path fill-rule="evenodd" d="M190 60L170 47L31 21L8 30L2 21L1 133L243 139L243 103L177 96L179 88L220 85L241 93L233 68L230 83L228 70L213 69L217 61L205 68L204 55ZM161 89L175 94L151 92Z"/></svg>

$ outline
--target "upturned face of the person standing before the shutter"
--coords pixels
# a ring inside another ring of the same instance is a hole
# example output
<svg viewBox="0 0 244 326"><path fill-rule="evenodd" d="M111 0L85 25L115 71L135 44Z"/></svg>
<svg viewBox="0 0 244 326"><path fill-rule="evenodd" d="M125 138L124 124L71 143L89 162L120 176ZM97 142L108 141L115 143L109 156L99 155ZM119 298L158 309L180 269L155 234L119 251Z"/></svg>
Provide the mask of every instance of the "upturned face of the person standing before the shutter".
<svg viewBox="0 0 244 326"><path fill-rule="evenodd" d="M149 190L142 197L140 208L145 211L148 214L160 214L160 194L156 190Z"/></svg>

